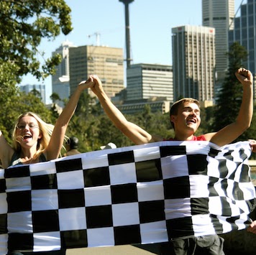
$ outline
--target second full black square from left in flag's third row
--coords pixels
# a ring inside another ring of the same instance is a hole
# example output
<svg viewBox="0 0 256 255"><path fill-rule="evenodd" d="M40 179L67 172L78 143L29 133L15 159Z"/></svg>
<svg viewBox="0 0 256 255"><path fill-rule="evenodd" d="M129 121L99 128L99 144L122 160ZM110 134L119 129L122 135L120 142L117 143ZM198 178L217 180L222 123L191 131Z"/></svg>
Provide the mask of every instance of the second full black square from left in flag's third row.
<svg viewBox="0 0 256 255"><path fill-rule="evenodd" d="M58 190L59 208L84 207L84 190Z"/></svg>

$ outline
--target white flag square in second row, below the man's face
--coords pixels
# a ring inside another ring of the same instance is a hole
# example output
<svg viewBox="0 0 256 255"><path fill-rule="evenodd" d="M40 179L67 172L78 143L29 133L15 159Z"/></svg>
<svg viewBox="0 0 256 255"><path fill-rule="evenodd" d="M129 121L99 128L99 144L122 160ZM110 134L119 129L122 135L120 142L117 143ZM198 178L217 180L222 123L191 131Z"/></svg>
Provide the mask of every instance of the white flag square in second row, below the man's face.
<svg viewBox="0 0 256 255"><path fill-rule="evenodd" d="M186 155L161 158L163 179L188 176L188 161Z"/></svg>

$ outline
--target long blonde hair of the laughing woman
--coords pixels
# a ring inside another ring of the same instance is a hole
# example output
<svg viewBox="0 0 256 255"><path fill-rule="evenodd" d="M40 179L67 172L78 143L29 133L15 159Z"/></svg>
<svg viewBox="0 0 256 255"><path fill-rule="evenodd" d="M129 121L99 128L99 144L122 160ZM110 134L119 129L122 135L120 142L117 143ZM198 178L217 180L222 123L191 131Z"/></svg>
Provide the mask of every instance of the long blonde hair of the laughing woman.
<svg viewBox="0 0 256 255"><path fill-rule="evenodd" d="M32 116L33 118L35 118L37 120L39 129L40 129L40 134L42 137L37 141L37 152L34 155L34 157L36 158L40 156L40 154L42 154L42 152L44 152L44 150L47 148L50 142L50 136L52 135L52 131L54 129L54 125L47 124L45 121L43 121L40 118L40 116L38 116L36 113L32 113L31 111L27 113L22 113L21 115L19 115L14 126L14 131L12 133L13 147L16 152L20 152L22 148L17 139L17 125L19 124L20 119L22 119L22 117L24 116Z"/></svg>

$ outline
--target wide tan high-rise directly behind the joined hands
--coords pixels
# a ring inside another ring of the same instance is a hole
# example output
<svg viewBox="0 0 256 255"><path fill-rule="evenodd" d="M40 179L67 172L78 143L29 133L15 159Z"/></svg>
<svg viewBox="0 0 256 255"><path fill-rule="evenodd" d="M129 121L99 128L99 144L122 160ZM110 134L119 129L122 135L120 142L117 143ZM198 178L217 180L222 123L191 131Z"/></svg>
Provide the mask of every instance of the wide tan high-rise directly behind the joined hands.
<svg viewBox="0 0 256 255"><path fill-rule="evenodd" d="M122 48L85 45L70 48L70 93L78 83L95 74L101 79L107 96L124 89L124 55ZM95 96L88 90L91 96Z"/></svg>

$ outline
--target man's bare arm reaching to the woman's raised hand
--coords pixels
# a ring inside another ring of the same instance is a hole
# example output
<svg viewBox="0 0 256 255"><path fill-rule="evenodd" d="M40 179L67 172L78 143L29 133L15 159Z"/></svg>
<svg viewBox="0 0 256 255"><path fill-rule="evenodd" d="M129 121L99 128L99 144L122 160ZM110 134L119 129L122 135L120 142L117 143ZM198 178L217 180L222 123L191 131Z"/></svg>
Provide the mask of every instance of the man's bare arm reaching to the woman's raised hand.
<svg viewBox="0 0 256 255"><path fill-rule="evenodd" d="M91 75L95 81L94 85L91 87L93 93L99 98L101 106L104 108L104 111L109 119L113 122L117 129L122 131L122 133L127 136L134 144L146 144L149 142L162 141L160 137L152 136L147 133L144 129L140 128L136 124L127 121L121 111L119 111L116 106L111 102L109 97L104 92L102 88L101 80L96 75ZM82 81L80 84L83 84Z"/></svg>

